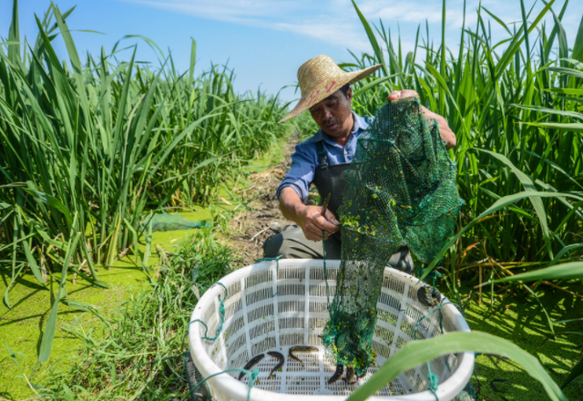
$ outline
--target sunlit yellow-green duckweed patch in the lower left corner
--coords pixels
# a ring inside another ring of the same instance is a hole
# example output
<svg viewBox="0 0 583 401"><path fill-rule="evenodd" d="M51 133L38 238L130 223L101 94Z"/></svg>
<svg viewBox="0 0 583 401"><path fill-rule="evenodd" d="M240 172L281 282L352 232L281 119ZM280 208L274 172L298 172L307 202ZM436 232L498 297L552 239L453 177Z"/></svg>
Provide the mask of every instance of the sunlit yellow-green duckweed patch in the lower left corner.
<svg viewBox="0 0 583 401"><path fill-rule="evenodd" d="M70 279L67 280L67 298L95 306L97 313L106 318L115 307L126 299L126 293L129 289L139 287L146 278L141 268L128 262L118 262L110 269L101 268L98 274L109 288L92 286L77 277L75 284ZM59 279L58 274L55 277L56 280ZM2 278L0 291L4 292L6 287L4 274ZM3 340L0 349L0 384L2 384L0 396L9 399L35 396L33 391L26 386L26 380L16 377L22 375L22 372L17 369L10 358L7 346L13 352L24 355L24 360L21 355L17 357L20 364L24 366L25 375L30 377L36 364L46 319L58 290L56 280L49 277L46 287L43 287L36 283L32 276L26 274L18 279L18 285L10 292L13 308L8 309L4 303L0 305L0 337ZM59 305L58 311L51 356L45 364L36 366L36 373L31 379L32 383L42 382L43 378L49 374L48 366L58 370L70 366L67 355L74 352L79 342L75 337L67 334L66 326L68 324L78 324L84 330L98 326L99 321L95 314L78 311L65 303Z"/></svg>

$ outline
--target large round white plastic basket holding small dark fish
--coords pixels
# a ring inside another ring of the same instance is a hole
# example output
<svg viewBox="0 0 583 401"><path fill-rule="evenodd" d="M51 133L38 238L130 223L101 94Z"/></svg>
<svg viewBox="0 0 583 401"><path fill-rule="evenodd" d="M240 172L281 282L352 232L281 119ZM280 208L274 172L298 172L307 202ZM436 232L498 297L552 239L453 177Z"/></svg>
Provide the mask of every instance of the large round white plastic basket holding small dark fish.
<svg viewBox="0 0 583 401"><path fill-rule="evenodd" d="M255 355L278 351L285 356L281 372L268 377L277 364L265 355L259 368L259 383L251 389L255 401L340 401L350 395L356 386L362 386L378 369L369 368L368 374L356 385L350 386L339 380L332 385L327 381L335 366L329 353L324 353L319 334L329 314L326 308L326 283L323 280L323 263L318 260L281 259L261 262L242 268L222 278L229 293L224 301L226 313L219 338L203 340L202 324L189 328L190 354L203 377L218 374L231 367L243 367ZM327 261L328 284L332 295L340 261ZM390 358L408 341L413 340L414 326L433 308L417 300L418 280L404 272L387 267L384 270L383 290L379 301L378 321L373 337L378 366ZM200 319L208 327L210 337L216 335L220 324L220 302L225 290L214 285L197 303L192 320ZM445 332L469 332L462 315L452 304L443 311ZM417 327L417 338L429 338L440 334L439 314L425 318ZM320 352L299 354L304 365L288 358L293 345L315 345ZM468 382L474 370L474 353L445 355L430 363L431 371L439 377L437 396L440 401L453 399ZM252 370L251 369L251 370ZM245 401L249 393L245 376L238 381L239 372L211 377L207 382L214 399L219 401ZM435 401L427 390L427 365L405 371L390 385L384 386L371 400ZM302 395L302 396L299 396Z"/></svg>

